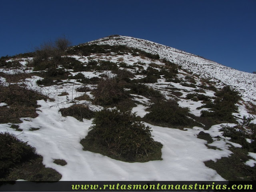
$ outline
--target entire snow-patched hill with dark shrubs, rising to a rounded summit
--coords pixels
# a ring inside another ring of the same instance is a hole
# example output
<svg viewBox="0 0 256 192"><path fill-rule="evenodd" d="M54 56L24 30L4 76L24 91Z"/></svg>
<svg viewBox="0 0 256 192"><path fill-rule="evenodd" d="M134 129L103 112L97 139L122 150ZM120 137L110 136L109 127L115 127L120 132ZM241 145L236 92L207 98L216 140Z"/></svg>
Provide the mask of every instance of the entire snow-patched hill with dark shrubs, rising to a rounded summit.
<svg viewBox="0 0 256 192"><path fill-rule="evenodd" d="M256 180L254 74L127 36L68 44L0 58L0 180Z"/></svg>

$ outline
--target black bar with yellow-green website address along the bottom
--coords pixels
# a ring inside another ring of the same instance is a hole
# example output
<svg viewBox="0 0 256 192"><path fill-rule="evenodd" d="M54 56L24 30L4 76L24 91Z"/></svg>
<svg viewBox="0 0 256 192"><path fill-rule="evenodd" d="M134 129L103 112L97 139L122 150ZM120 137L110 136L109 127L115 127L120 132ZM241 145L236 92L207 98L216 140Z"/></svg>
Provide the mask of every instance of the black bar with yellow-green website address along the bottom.
<svg viewBox="0 0 256 192"><path fill-rule="evenodd" d="M235 186L234 186L235 185ZM256 192L244 181L0 181L0 192Z"/></svg>

